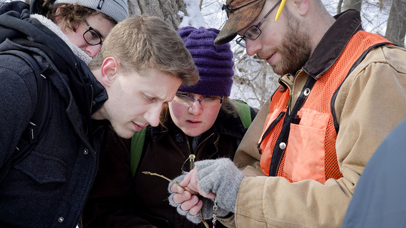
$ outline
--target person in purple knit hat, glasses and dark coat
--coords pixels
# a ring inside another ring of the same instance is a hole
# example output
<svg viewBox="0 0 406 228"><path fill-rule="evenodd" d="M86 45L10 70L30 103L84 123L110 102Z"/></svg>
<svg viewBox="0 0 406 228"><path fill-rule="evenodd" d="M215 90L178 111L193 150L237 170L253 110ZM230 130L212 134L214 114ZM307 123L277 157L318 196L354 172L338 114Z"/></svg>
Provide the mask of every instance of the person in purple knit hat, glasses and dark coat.
<svg viewBox="0 0 406 228"><path fill-rule="evenodd" d="M177 32L200 80L179 87L173 101L164 105L160 125L136 132L127 145L130 151L118 150L118 141L107 142L112 152L106 153L108 163L101 164L99 176L107 185L95 184L82 216L83 228L203 227L200 218L182 216L177 212L182 211L180 207L174 208L172 200L172 205L168 203L167 180L142 172L173 179L192 170L195 161L232 159L257 110L229 98L233 53L230 44L214 45L218 29L184 27ZM118 196L131 184L128 192ZM213 207L212 202L205 205ZM207 223L212 225L211 220Z"/></svg>

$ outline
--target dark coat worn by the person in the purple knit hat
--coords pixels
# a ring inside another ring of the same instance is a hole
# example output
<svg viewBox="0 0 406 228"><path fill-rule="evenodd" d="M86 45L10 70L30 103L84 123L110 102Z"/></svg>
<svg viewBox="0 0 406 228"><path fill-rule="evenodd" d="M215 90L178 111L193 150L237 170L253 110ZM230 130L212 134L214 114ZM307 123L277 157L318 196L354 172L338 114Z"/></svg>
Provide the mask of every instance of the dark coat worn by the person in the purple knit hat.
<svg viewBox="0 0 406 228"><path fill-rule="evenodd" d="M256 112L251 108L252 119ZM201 135L200 145L191 151L188 149L188 145L192 147L191 138L172 121L168 124L170 130L147 127L144 152L135 178L130 171L129 142L109 134L105 156L83 213L84 228L203 227L189 222L169 205L168 181L141 171L173 179L182 174L181 169L189 171L188 152L196 155L196 161L232 159L246 130L239 117L219 116L212 128ZM217 223L216 227L223 226Z"/></svg>

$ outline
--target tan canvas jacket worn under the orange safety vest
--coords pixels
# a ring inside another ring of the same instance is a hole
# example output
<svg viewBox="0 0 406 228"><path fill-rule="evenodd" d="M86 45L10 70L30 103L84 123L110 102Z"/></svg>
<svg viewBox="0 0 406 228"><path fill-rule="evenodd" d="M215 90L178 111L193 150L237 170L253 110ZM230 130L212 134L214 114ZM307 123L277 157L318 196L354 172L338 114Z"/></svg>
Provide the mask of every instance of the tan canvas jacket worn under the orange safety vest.
<svg viewBox="0 0 406 228"><path fill-rule="evenodd" d="M351 29L345 28L348 20L360 25L359 14L354 12L340 15L345 20L336 22L319 46L340 43L340 34ZM292 106L311 77L306 72L305 65L295 78L283 76L293 86ZM341 86L334 103L339 123L336 151L343 173L338 180L328 179L325 184L315 180L290 183L283 177L255 176L264 175L259 168L257 143L269 102L257 114L236 152L234 162L245 167L248 177L240 185L235 218L223 223L235 222L238 228L341 227L365 165L380 142L406 117L406 50L394 46L373 49Z"/></svg>

